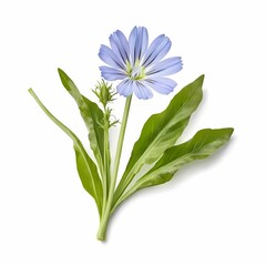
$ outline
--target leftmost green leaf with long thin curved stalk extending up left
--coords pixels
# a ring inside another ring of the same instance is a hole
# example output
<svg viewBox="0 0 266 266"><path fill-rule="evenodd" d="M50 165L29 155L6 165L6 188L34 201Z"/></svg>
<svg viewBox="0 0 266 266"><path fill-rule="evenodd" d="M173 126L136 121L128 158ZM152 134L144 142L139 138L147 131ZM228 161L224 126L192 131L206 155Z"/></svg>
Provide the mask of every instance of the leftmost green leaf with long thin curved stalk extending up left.
<svg viewBox="0 0 266 266"><path fill-rule="evenodd" d="M83 187L86 192L95 200L98 205L98 211L101 215L102 212L102 182L98 174L96 165L93 163L91 157L84 150L81 141L78 136L63 123L61 123L57 117L54 117L49 110L42 104L40 99L35 95L32 89L29 93L34 98L37 103L43 110L43 112L62 130L64 131L73 141L75 157L76 157L76 168L82 182Z"/></svg>

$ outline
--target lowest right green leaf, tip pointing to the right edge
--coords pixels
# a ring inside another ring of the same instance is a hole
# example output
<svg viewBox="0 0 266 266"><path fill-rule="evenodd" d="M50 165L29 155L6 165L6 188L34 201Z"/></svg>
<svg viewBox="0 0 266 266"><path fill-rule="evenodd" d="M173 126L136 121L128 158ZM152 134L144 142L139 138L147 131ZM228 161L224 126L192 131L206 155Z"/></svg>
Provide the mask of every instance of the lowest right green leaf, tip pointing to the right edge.
<svg viewBox="0 0 266 266"><path fill-rule="evenodd" d="M231 127L202 130L190 141L170 147L156 164L120 198L116 205L141 188L168 182L183 165L208 157L228 142L233 131Z"/></svg>

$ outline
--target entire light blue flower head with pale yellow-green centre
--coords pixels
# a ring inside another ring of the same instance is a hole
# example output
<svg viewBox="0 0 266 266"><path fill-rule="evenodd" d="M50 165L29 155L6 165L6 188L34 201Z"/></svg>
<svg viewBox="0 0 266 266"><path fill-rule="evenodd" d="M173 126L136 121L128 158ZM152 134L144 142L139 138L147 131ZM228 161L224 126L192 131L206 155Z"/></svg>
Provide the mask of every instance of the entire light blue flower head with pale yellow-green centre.
<svg viewBox="0 0 266 266"><path fill-rule="evenodd" d="M182 70L180 57L162 60L171 48L164 34L149 45L149 34L144 27L134 27L129 40L120 30L110 35L110 45L101 45L99 57L110 66L100 66L102 78L108 81L122 80L116 90L120 95L133 92L139 99L153 96L152 90L168 94L176 82L166 75Z"/></svg>

